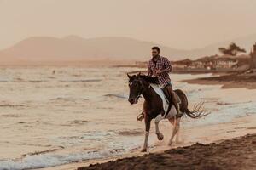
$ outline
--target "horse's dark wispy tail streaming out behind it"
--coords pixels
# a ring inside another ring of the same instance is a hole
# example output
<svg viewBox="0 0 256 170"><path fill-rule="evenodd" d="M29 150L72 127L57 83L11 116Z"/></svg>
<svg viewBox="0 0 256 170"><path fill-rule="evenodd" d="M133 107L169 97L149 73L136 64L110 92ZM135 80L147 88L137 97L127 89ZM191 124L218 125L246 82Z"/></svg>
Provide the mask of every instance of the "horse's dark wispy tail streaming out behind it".
<svg viewBox="0 0 256 170"><path fill-rule="evenodd" d="M204 111L203 105L204 105L204 103L201 102L194 106L193 111L190 111L189 108L186 108L184 112L186 113L187 116L189 116L190 118L193 118L193 119L198 119L203 116L207 116L210 114L210 112Z"/></svg>

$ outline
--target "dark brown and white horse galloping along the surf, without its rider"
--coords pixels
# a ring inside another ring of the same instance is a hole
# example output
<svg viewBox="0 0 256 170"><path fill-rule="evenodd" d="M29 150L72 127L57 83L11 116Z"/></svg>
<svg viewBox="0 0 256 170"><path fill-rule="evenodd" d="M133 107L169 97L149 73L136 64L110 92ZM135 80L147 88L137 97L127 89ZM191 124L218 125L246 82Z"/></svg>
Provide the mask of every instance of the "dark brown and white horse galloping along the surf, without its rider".
<svg viewBox="0 0 256 170"><path fill-rule="evenodd" d="M202 104L196 105L194 111L189 111L188 99L186 95L183 93L183 91L180 89L175 90L175 93L178 95L180 99L180 115L177 115L177 111L174 109L173 106L171 111L166 113L168 111L166 110L165 107L167 102L161 88L159 88L159 86L157 85L157 78L148 77L140 74L127 76L129 77L130 88L130 95L128 100L131 103L131 105L137 104L137 101L141 97L141 95L143 95L143 98L145 99L143 103L143 114L146 132L142 151L146 151L148 148L148 135L150 129L150 122L152 119L155 119L155 133L159 140L162 140L164 138L164 135L160 133L159 130L159 122L163 119L168 119L169 122L172 123L174 128L172 131L172 137L168 143L168 145L171 146L172 139L179 131L180 120L183 114L186 114L191 118L200 118L201 116L207 115L207 113L204 113L204 111L202 111L201 109ZM170 103L168 105L172 104ZM176 139L178 140L178 135Z"/></svg>

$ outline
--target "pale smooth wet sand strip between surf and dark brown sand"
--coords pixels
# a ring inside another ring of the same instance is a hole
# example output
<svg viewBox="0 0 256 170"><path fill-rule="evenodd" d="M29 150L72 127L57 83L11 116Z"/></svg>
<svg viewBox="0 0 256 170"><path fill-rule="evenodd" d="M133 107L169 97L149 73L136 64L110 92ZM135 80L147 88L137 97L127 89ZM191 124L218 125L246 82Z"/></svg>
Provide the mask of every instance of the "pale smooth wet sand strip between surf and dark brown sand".
<svg viewBox="0 0 256 170"><path fill-rule="evenodd" d="M197 142L200 142L201 144L220 143L226 139L234 139L247 134L256 133L256 127L255 127L256 121L253 121L253 120L256 120L256 115L238 117L231 122L218 123L215 125L207 125L202 127L193 127L190 129L182 129L181 131L181 136L183 137L182 139L188 142L173 145L172 149L176 149L177 147L187 147ZM166 133L166 129L163 129L163 131L164 133ZM207 135L206 135L206 132L207 132ZM150 137L154 138L153 132L151 132ZM143 142L143 136L142 136L142 142ZM79 162L73 162L73 163L60 165L56 167L45 167L40 169L41 170L69 170L69 169L77 169L78 167L88 167L90 166L90 164L102 164L107 161L116 161L119 159L127 159L127 158L129 159L130 157L133 157L133 156L161 154L161 153L164 153L165 150L170 150L170 147L168 147L166 144L167 144L167 141L159 142L159 144L157 144L156 147L150 148L147 153L142 153L139 150L137 150L132 153L124 154L121 156L113 156L105 159L79 161Z"/></svg>

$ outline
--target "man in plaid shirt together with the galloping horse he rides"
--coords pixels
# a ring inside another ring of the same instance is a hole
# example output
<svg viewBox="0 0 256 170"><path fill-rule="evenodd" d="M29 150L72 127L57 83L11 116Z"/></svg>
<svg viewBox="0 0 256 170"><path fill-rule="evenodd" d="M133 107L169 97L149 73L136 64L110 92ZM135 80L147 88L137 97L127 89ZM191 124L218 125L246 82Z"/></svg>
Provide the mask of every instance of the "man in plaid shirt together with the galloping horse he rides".
<svg viewBox="0 0 256 170"><path fill-rule="evenodd" d="M138 120L144 118L145 121L145 139L142 151L147 151L148 149L150 122L153 119L155 134L159 140L164 138L164 135L160 133L160 121L168 119L172 123L174 128L168 143L171 146L175 136L178 141L180 121L184 114L194 119L209 114L202 109L203 103L195 105L194 110L190 111L186 94L181 89L172 90L171 79L168 74L172 71L172 66L168 59L160 56L160 48L152 48L152 59L149 60L148 64L148 76L140 73L137 75L127 74L130 89L128 101L133 105L137 104L141 95L144 98L143 114L137 118ZM177 99L179 100L178 103Z"/></svg>

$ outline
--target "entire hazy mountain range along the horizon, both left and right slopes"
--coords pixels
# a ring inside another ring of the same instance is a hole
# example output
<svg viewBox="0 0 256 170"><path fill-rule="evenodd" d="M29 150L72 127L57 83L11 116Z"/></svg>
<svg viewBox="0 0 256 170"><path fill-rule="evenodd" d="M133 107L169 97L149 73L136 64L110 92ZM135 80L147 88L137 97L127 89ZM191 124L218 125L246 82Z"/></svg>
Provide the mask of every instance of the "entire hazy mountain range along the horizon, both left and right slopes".
<svg viewBox="0 0 256 170"><path fill-rule="evenodd" d="M230 42L236 42L241 48L250 49L253 43L256 42L256 34L192 50L169 48L129 37L29 37L10 48L0 51L0 62L44 63L50 61L100 59L142 61L150 58L150 48L155 45L160 46L161 54L169 59L195 59L206 55L218 54L218 48L226 47Z"/></svg>

